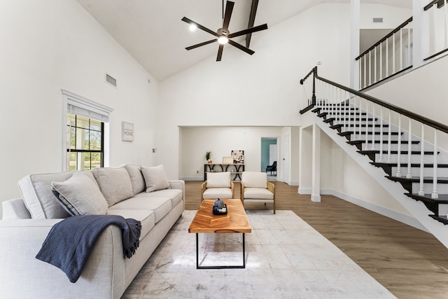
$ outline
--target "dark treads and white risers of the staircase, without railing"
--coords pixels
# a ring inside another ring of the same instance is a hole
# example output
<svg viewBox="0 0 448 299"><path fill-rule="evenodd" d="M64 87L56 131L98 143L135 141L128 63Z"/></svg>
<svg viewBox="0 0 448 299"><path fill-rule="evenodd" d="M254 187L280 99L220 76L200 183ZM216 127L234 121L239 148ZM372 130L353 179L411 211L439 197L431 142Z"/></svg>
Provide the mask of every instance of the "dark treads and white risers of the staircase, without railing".
<svg viewBox="0 0 448 299"><path fill-rule="evenodd" d="M443 194L438 194L438 198L431 197L431 191L433 188L433 177L430 176L434 171L434 165L430 162L423 164L423 171L426 176L423 176L423 190L424 195L419 195L420 188L420 164L421 160L421 140L417 137L412 137L410 146L410 160L414 161L410 164L411 177L397 176L398 169L398 150L400 150L400 169L407 171L408 164L403 163L402 160L407 160L409 147L409 134L403 130L398 131L398 128L387 124L384 120L379 121L379 118L372 117L370 114L367 117L367 112L360 110L358 107L348 104L325 104L321 102L321 105L311 110L316 113L319 118L323 119L323 123L327 123L330 129L335 130L339 137L346 138L346 144L356 146L357 153L367 156L371 162L371 165L381 167L384 170L384 176L386 179L396 181L404 188L404 194L412 200L418 200L423 202L432 214L428 216L440 221L444 224L448 224L447 219L447 207L448 205L448 164L438 164L437 170L443 171L446 177L437 177L437 186L439 190L443 190ZM351 122L348 125L348 122ZM355 123L356 122L356 123ZM345 123L345 124L344 124ZM380 124L382 123L382 124ZM373 128L377 128L374 131ZM356 132L360 132L357 134ZM373 139L372 135L379 136L380 134L388 136L391 134L391 139ZM398 136L400 137L400 146L398 144ZM372 144L374 149L372 149ZM386 157L388 153L389 144L391 146L390 157ZM406 150L402 150L405 147ZM381 152L380 152L381 150ZM381 157L383 155L383 157ZM426 156L423 160L431 160L434 155L434 151L423 151L423 155ZM437 151L437 155L440 155L440 151ZM384 162L388 160L388 162Z"/></svg>

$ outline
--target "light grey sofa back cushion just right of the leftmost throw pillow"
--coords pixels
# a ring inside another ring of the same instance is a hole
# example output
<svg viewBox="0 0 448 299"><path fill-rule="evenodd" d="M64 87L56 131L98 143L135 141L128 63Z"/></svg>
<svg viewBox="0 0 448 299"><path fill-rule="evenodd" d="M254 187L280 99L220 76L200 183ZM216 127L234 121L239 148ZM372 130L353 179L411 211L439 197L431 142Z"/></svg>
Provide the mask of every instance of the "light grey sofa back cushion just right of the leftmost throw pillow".
<svg viewBox="0 0 448 299"><path fill-rule="evenodd" d="M95 168L92 169L92 174L109 207L134 195L131 178L125 168Z"/></svg>

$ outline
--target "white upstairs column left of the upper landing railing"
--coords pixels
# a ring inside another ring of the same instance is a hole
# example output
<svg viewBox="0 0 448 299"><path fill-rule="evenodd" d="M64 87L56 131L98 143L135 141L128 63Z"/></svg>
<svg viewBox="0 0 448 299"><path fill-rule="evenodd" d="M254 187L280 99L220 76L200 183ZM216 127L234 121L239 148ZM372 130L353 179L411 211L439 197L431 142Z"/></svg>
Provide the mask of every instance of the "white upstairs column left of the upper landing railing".
<svg viewBox="0 0 448 299"><path fill-rule="evenodd" d="M360 0L350 1L350 87L359 90L359 63L355 60L359 53Z"/></svg>

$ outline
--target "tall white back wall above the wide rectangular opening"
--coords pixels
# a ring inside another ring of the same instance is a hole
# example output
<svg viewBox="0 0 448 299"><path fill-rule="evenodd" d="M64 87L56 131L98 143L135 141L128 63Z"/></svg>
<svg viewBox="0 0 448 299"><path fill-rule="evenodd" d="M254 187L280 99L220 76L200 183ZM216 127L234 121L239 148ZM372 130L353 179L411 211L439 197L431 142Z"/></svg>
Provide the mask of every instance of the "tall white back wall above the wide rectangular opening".
<svg viewBox="0 0 448 299"><path fill-rule="evenodd" d="M169 176L181 174L178 126L296 127L299 81L317 61L319 74L348 84L349 4L320 4L253 34L252 56L225 46L216 62L209 48L209 60L161 83L158 158Z"/></svg>

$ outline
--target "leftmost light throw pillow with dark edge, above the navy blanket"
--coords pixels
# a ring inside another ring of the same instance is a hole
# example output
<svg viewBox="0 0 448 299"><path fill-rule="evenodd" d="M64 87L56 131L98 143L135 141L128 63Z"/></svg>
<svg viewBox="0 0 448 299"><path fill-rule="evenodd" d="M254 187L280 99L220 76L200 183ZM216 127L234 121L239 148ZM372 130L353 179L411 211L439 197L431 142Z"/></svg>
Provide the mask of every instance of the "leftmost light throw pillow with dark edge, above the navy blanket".
<svg viewBox="0 0 448 299"><path fill-rule="evenodd" d="M53 181L51 186L57 200L72 216L106 214L106 198L83 172L75 172L63 182Z"/></svg>

